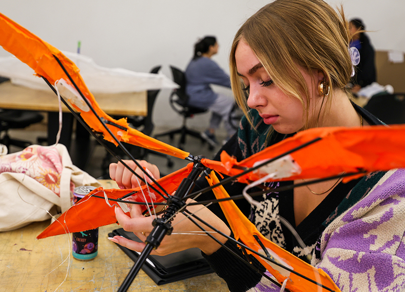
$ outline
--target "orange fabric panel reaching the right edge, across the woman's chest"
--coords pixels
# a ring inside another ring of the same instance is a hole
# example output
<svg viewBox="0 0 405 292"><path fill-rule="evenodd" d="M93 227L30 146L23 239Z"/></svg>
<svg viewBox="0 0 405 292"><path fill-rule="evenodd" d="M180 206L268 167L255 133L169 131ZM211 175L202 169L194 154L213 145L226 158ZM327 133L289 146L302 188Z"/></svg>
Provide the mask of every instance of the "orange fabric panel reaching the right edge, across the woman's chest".
<svg viewBox="0 0 405 292"><path fill-rule="evenodd" d="M222 153L221 163L208 159L202 160L202 163L222 174L233 176L241 173L242 167L252 167L258 161L269 160L318 137L322 139L290 154L302 172L282 180L326 178L343 172L373 172L405 167L403 125L313 128L267 147L241 162ZM261 177L257 172L251 172L238 181L249 183ZM344 178L344 182L353 178Z"/></svg>

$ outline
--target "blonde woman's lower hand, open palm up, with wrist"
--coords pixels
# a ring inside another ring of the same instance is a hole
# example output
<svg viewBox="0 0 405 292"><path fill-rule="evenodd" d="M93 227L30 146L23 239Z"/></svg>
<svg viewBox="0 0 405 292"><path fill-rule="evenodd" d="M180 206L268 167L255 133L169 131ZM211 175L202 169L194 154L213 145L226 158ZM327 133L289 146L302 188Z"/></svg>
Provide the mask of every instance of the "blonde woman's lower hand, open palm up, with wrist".
<svg viewBox="0 0 405 292"><path fill-rule="evenodd" d="M188 200L187 202L192 202L193 200ZM208 208L195 205L188 206L187 209L190 212L195 212L195 215L202 220L206 221L214 228L225 233L226 235L231 235L231 231L228 226L218 217L216 217ZM125 231L134 232L134 234L145 241L149 233L152 231L152 221L154 216L144 217L141 214L141 208L139 205L133 205L130 211L131 217L127 216L121 208L116 207L116 219L118 223L122 226ZM184 219L184 220L183 220ZM196 219L194 219L196 220ZM198 222L198 221L197 221ZM177 224L178 223L178 224ZM212 231L208 226L201 222L198 222L205 230ZM191 220L186 219L181 213L177 214L172 221L173 232L170 236L165 236L160 243L159 247L152 251L152 255L164 256L186 250L189 248L197 247L201 249L206 255L211 255L217 251L221 246L215 242L211 237L205 235L205 233L199 229ZM196 235L194 232L198 231L200 235ZM142 234L145 232L145 234ZM187 233L187 234L186 234ZM201 235L202 234L202 235ZM222 243L227 241L226 237L219 235L218 233L211 233L214 237L219 239ZM115 236L109 238L111 241L116 242L126 248L131 250L142 252L145 247L144 242L136 242L124 237Z"/></svg>

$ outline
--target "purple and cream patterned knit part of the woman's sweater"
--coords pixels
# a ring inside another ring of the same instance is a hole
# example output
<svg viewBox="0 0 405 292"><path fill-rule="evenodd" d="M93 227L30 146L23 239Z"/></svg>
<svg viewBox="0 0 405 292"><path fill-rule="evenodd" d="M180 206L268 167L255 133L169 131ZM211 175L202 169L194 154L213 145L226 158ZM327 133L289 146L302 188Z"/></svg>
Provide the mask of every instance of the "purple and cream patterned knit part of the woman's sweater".
<svg viewBox="0 0 405 292"><path fill-rule="evenodd" d="M403 291L405 287L405 169L388 171L364 197L332 219L311 264L342 292ZM263 277L249 292L280 288Z"/></svg>

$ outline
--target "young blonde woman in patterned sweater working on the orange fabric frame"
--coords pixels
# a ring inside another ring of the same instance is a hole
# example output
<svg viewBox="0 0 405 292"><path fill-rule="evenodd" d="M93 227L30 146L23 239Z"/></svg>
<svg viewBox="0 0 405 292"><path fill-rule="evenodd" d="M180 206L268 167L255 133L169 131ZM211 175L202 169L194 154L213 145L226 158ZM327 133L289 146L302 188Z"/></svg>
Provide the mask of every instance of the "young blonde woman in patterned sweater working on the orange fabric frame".
<svg viewBox="0 0 405 292"><path fill-rule="evenodd" d="M323 0L275 0L249 18L237 32L230 54L232 90L246 117L223 150L242 160L304 129L382 124L350 101L346 90L353 72L350 37L343 12L337 13ZM119 185L133 186L133 176L121 164L110 169ZM156 169L152 172L158 177ZM277 192L278 187L300 182L269 183L275 192L256 198L258 206L242 209L265 237L303 260L310 255L310 264L329 274L341 291L401 291L405 283L405 171L376 172L349 183L338 179ZM201 179L196 188L205 185ZM237 195L244 185L225 187ZM231 234L220 211L206 208L198 216ZM137 207L131 217L116 211L124 229L144 240L142 232L152 230L151 219L142 218ZM287 225L294 227L306 247ZM197 228L188 220L174 226L174 232L189 230ZM236 244L216 237L243 257ZM112 240L136 251L144 246L124 238ZM232 292L280 291L207 237L168 236L155 253L189 247L202 250Z"/></svg>

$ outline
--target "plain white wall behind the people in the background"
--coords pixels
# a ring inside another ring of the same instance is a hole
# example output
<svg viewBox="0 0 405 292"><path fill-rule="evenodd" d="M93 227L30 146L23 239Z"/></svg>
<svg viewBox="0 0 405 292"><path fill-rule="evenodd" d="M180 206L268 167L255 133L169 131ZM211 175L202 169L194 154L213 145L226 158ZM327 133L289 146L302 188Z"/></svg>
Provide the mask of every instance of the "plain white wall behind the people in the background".
<svg viewBox="0 0 405 292"><path fill-rule="evenodd" d="M148 72L163 65L185 69L199 37L215 35L213 57L226 71L231 41L239 26L268 0L2 0L0 12L59 50L92 57L104 67ZM359 17L378 50L405 51L404 0L327 0L343 4L347 18ZM0 56L9 55L0 48ZM221 90L231 94L230 91ZM154 110L157 126L180 124L161 91ZM206 125L208 115L191 125Z"/></svg>

